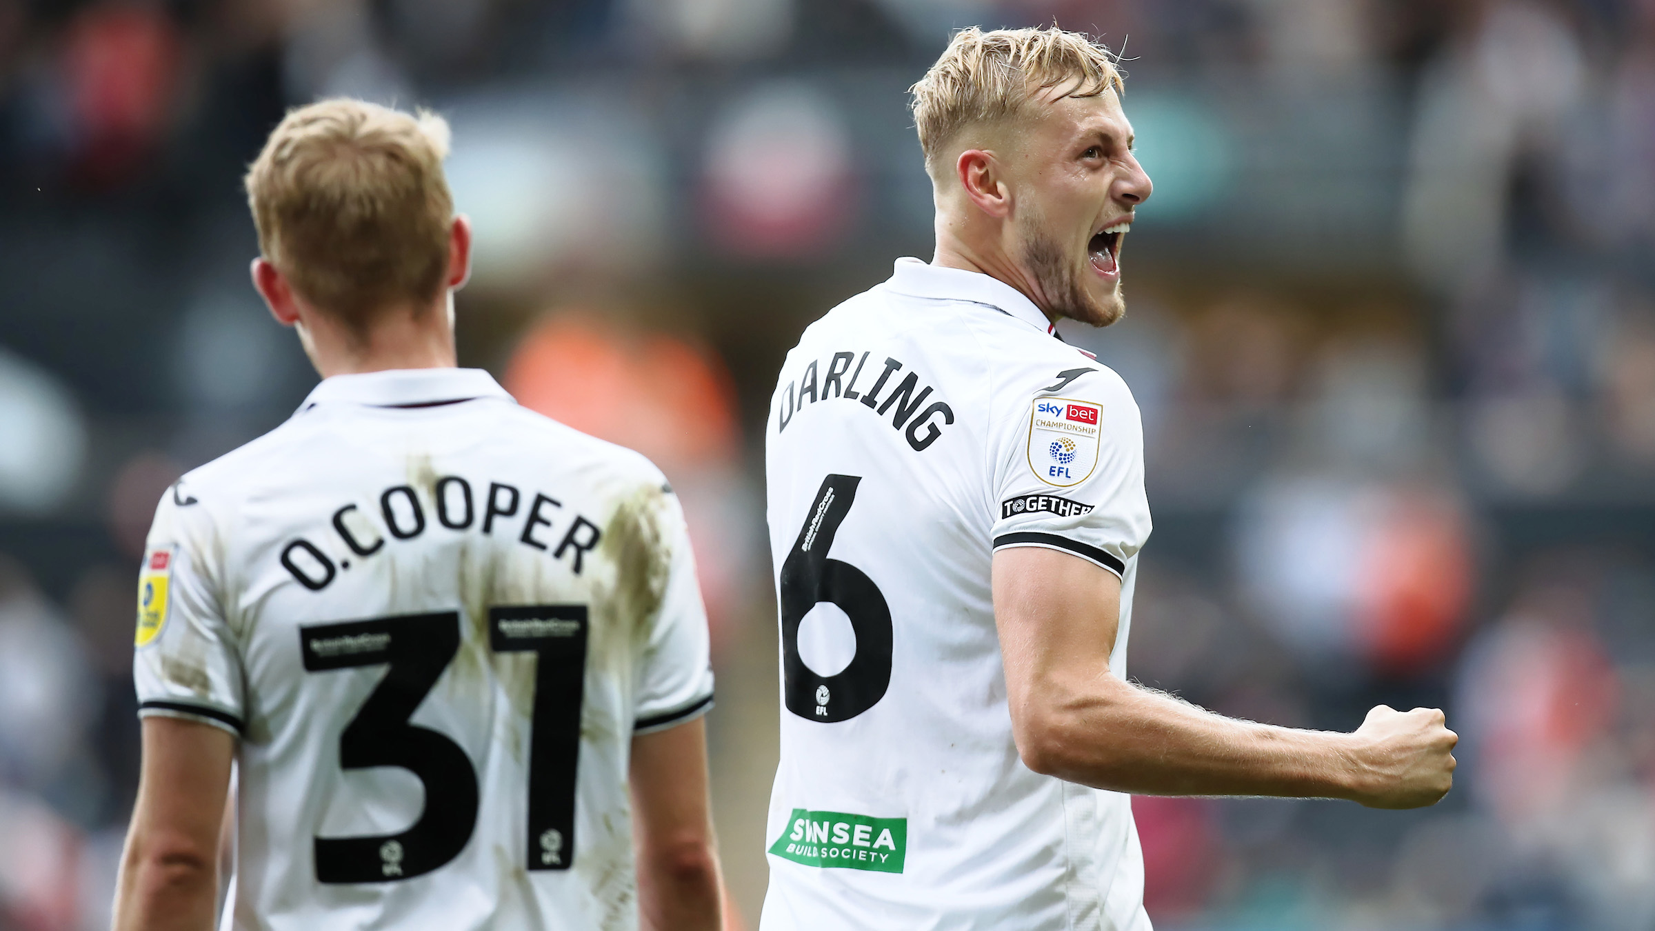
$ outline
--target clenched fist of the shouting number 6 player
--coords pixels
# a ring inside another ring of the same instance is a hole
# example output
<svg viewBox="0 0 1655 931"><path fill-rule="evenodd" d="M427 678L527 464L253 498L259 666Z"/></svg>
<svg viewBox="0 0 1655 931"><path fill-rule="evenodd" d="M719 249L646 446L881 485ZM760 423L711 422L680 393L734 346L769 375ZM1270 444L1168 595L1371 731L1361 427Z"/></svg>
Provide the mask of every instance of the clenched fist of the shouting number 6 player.
<svg viewBox="0 0 1655 931"><path fill-rule="evenodd" d="M1453 787L1450 731L1435 707L1397 711L1377 706L1350 736L1355 782L1352 798L1369 808L1435 805Z"/></svg>

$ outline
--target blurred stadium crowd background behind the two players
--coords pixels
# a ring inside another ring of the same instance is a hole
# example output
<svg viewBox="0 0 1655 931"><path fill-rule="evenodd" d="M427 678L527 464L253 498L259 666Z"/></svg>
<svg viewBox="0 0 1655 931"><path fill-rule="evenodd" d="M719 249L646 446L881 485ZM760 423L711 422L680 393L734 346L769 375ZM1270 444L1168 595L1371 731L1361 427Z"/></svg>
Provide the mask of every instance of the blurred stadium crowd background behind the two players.
<svg viewBox="0 0 1655 931"><path fill-rule="evenodd" d="M1054 17L1125 41L1155 179L1129 320L1069 333L1145 417L1132 673L1461 734L1430 810L1139 800L1152 916L1655 928L1650 0L0 0L0 928L106 926L154 502L314 383L238 177L323 94L452 119L462 364L682 489L751 926L773 376L930 255L904 89L947 30Z"/></svg>

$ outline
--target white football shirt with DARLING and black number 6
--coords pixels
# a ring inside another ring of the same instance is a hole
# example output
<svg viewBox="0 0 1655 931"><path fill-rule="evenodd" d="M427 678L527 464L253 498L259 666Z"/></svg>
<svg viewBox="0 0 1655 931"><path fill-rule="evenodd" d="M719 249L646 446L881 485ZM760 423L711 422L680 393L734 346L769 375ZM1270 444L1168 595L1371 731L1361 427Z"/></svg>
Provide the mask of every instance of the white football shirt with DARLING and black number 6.
<svg viewBox="0 0 1655 931"><path fill-rule="evenodd" d="M763 931L1145 931L1130 798L1023 765L990 563L1122 580L1150 532L1137 404L988 275L897 262L788 353L766 426L781 765Z"/></svg>

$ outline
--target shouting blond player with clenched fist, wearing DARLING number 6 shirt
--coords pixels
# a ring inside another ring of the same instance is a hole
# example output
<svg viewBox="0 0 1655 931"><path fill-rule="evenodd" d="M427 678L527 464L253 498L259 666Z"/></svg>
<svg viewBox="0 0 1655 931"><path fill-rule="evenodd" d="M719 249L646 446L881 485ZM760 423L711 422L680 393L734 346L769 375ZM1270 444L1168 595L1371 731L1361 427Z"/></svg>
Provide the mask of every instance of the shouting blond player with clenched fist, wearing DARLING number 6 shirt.
<svg viewBox="0 0 1655 931"><path fill-rule="evenodd" d="M955 35L912 89L932 262L897 260L783 364L763 931L1144 931L1132 792L1448 792L1440 711L1291 731L1125 679L1150 533L1139 411L1054 336L1125 306L1150 179L1120 91L1082 35Z"/></svg>

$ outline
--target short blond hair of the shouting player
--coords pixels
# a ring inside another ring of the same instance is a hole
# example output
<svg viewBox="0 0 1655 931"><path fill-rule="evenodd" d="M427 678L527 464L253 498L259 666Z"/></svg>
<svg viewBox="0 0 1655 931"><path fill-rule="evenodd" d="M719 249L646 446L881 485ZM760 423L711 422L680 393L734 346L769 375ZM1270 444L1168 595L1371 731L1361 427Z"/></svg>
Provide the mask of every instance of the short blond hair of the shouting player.
<svg viewBox="0 0 1655 931"><path fill-rule="evenodd" d="M1074 98L1122 91L1115 61L1091 36L1056 25L986 33L971 27L953 33L942 58L909 88L925 166L933 167L962 129L1021 118L1039 91L1067 81L1076 83L1067 94Z"/></svg>

